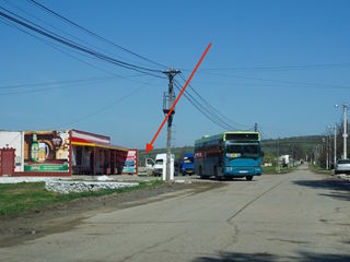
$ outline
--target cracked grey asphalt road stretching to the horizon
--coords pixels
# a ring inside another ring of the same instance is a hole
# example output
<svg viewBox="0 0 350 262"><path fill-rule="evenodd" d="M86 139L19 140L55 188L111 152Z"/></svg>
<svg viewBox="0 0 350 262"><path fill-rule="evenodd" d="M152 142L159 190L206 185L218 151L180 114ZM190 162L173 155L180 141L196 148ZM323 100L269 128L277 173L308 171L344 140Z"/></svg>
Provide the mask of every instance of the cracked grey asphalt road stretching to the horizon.
<svg viewBox="0 0 350 262"><path fill-rule="evenodd" d="M350 261L349 184L305 168L95 214L0 261Z"/></svg>

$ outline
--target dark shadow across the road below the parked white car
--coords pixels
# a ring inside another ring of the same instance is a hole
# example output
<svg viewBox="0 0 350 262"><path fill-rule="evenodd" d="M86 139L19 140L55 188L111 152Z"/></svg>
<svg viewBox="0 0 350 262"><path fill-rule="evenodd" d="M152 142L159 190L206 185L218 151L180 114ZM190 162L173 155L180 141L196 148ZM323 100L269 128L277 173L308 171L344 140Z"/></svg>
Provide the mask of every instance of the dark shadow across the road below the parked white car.
<svg viewBox="0 0 350 262"><path fill-rule="evenodd" d="M337 179L323 180L296 180L293 183L314 189L334 190L329 193L320 193L319 195L330 196L338 200L350 201L350 183Z"/></svg>

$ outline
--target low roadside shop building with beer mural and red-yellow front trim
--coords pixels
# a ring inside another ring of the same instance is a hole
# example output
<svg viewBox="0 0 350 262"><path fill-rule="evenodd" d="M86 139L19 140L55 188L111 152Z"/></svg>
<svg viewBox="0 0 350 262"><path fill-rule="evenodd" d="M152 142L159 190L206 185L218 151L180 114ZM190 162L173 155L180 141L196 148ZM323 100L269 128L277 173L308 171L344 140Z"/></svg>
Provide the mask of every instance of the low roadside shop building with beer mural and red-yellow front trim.
<svg viewBox="0 0 350 262"><path fill-rule="evenodd" d="M12 174L0 168L0 176L137 174L137 150L113 145L109 136L75 129L0 131L0 151L7 152L0 154L0 164L13 162Z"/></svg>

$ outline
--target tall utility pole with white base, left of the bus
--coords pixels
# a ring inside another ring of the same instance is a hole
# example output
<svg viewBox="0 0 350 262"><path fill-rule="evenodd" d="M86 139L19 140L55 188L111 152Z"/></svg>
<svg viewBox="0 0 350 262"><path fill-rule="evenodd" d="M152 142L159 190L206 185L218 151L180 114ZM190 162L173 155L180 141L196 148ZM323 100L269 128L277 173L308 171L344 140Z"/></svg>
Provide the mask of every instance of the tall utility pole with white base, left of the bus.
<svg viewBox="0 0 350 262"><path fill-rule="evenodd" d="M174 76L182 71L174 70L171 68L170 70L163 71L164 74L168 76L168 102L166 105L166 95L164 94L164 104L163 104L163 111L164 114L168 114L171 108L173 107L173 98L175 99L175 94L173 91L174 85ZM167 139L166 139L166 174L165 174L165 180L171 180L171 164L172 164L172 123L173 123L173 115L175 114L175 110L172 111L171 116L168 116L167 119ZM175 160L175 159L174 159Z"/></svg>

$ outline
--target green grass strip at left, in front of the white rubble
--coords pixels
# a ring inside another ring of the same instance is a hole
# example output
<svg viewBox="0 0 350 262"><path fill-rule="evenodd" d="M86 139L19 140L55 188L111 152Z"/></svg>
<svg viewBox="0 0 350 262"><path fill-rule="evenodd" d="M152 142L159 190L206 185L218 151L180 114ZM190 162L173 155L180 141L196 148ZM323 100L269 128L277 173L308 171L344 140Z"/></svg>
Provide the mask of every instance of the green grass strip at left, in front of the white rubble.
<svg viewBox="0 0 350 262"><path fill-rule="evenodd" d="M25 211L31 211L54 203L68 202L79 198L101 196L112 193L130 192L147 188L155 188L164 182L154 180L151 182L140 182L137 187L122 189L104 189L93 192L60 194L45 189L45 182L22 182L0 184L0 217L18 215Z"/></svg>

